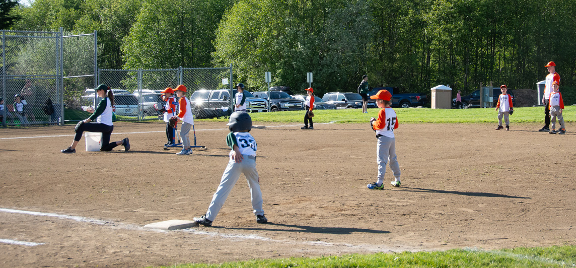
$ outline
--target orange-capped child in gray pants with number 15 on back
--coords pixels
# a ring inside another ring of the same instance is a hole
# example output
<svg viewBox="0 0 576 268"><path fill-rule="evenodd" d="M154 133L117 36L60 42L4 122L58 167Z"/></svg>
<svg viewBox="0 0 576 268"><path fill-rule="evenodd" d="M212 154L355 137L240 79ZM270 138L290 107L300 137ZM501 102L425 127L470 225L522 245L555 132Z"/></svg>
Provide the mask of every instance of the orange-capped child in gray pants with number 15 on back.
<svg viewBox="0 0 576 268"><path fill-rule="evenodd" d="M378 163L378 181L368 184L370 190L384 189L384 174L386 173L386 164L390 162L390 169L394 174L395 180L391 182L392 186L400 187L400 165L396 160L396 139L394 130L398 128L396 112L390 107L392 104L392 94L388 90L380 90L376 95L370 96L370 99L376 100L379 108L378 119L371 118L370 125L376 131L376 162Z"/></svg>

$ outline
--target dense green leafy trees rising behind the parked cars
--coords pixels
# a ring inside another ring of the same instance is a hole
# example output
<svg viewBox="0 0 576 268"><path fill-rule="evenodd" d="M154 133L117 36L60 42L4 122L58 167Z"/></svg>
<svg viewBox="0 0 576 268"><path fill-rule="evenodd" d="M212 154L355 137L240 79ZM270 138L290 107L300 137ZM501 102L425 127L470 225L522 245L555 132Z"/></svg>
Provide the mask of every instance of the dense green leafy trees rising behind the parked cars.
<svg viewBox="0 0 576 268"><path fill-rule="evenodd" d="M7 1L10 2L10 1ZM370 86L469 93L535 88L556 62L576 75L576 0L35 0L10 29L98 31L101 69L234 66L249 89Z"/></svg>

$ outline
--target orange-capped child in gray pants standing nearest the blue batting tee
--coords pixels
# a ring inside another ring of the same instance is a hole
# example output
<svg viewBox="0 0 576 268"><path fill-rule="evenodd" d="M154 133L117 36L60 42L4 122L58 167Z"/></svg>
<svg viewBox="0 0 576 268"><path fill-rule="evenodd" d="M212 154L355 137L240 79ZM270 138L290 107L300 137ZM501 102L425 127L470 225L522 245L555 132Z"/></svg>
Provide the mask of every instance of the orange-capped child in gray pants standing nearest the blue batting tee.
<svg viewBox="0 0 576 268"><path fill-rule="evenodd" d="M188 156L192 154L192 148L190 147L190 128L194 125L194 115L192 114L192 105L190 100L184 95L186 93L186 86L178 85L174 89L176 96L180 99L178 100L179 112L176 115L179 121L182 121L182 126L180 127L180 137L182 138L183 148L180 152L176 153L179 156Z"/></svg>

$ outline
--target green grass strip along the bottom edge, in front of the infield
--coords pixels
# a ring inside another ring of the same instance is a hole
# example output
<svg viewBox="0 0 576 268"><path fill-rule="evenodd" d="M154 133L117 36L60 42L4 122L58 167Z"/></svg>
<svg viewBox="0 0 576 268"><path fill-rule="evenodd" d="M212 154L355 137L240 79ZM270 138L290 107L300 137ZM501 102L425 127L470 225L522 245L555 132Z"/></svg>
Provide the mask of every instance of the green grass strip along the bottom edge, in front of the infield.
<svg viewBox="0 0 576 268"><path fill-rule="evenodd" d="M553 246L479 250L352 254L320 258L259 259L217 265L188 264L175 268L198 267L575 267L576 247Z"/></svg>

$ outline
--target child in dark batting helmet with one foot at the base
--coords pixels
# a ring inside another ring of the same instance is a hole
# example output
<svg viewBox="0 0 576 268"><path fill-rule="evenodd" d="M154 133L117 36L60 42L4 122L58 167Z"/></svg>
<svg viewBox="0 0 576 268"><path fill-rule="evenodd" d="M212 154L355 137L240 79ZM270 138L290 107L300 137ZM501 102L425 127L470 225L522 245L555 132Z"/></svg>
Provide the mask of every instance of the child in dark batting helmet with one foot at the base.
<svg viewBox="0 0 576 268"><path fill-rule="evenodd" d="M234 112L230 115L228 122L230 133L226 137L226 144L232 148L230 151L230 160L222 179L220 186L214 193L212 202L208 207L208 212L202 217L194 218L196 224L212 226L212 222L218 215L218 212L224 205L228 194L240 178L240 173L244 173L250 194L252 198L252 209L256 215L256 222L263 224L268 222L262 209L262 192L260 191L260 178L256 171L256 140L249 133L252 129L252 118L247 112Z"/></svg>

